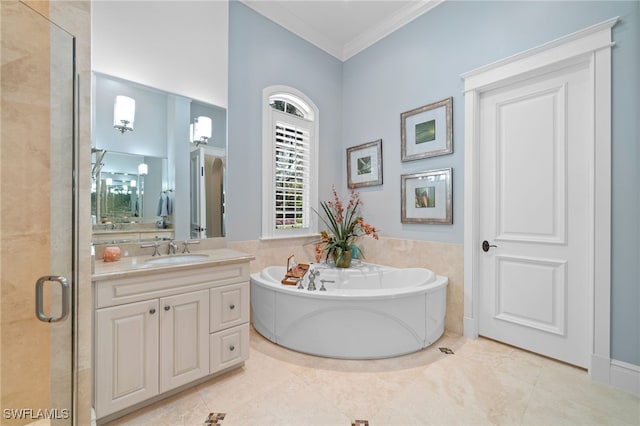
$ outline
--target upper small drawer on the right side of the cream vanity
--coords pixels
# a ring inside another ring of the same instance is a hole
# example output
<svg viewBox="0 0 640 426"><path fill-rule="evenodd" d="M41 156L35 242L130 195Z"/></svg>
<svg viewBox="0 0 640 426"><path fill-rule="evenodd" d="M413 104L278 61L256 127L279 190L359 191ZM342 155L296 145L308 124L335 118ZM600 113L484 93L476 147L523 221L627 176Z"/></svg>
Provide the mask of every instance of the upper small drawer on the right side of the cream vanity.
<svg viewBox="0 0 640 426"><path fill-rule="evenodd" d="M249 283L209 290L209 331L216 332L249 322Z"/></svg>

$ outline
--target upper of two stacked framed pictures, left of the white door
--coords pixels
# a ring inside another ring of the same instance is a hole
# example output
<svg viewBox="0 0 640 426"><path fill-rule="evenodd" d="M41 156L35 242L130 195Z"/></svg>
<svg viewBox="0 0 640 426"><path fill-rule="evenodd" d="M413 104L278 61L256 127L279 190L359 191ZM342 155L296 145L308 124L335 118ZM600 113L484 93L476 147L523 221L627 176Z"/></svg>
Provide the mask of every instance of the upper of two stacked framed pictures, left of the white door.
<svg viewBox="0 0 640 426"><path fill-rule="evenodd" d="M453 98L400 114L402 161L453 152Z"/></svg>

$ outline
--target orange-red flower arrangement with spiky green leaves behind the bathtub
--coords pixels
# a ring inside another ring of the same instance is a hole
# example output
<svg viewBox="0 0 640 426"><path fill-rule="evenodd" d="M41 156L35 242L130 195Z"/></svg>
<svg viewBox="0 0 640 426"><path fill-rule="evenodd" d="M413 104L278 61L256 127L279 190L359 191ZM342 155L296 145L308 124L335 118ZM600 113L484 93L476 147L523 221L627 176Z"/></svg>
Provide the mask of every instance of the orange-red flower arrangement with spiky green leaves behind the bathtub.
<svg viewBox="0 0 640 426"><path fill-rule="evenodd" d="M342 260L344 253L351 253L352 250L364 257L360 248L353 245L354 241L365 235L371 235L377 240L378 231L374 226L366 223L360 215L361 205L360 194L351 189L351 196L345 207L335 187L333 187L333 201L320 202L326 218L316 213L327 226L328 231L322 231L320 241L315 243L316 262L322 259L325 251L327 252L325 259L332 256L336 262Z"/></svg>

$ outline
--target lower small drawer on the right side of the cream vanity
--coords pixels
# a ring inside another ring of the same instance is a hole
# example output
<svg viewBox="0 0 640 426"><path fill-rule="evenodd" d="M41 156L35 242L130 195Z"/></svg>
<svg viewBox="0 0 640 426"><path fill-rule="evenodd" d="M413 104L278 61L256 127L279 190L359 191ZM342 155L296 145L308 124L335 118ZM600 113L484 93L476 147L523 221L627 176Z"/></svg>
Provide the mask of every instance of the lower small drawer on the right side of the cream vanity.
<svg viewBox="0 0 640 426"><path fill-rule="evenodd" d="M249 324L209 336L209 373L239 364L249 358Z"/></svg>

